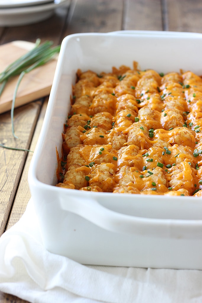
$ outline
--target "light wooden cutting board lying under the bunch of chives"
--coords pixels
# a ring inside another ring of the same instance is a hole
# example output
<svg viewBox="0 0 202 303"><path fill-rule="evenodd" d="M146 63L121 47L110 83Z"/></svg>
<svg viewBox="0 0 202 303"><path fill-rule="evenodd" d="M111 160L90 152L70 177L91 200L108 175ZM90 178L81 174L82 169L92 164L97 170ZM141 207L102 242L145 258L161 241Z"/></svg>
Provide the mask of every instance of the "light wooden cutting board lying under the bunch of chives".
<svg viewBox="0 0 202 303"><path fill-rule="evenodd" d="M35 46L32 42L13 41L0 45L0 73L13 61ZM19 85L15 107L37 100L50 94L57 57L50 62L25 74ZM0 96L0 113L11 109L13 92L18 76L10 79Z"/></svg>

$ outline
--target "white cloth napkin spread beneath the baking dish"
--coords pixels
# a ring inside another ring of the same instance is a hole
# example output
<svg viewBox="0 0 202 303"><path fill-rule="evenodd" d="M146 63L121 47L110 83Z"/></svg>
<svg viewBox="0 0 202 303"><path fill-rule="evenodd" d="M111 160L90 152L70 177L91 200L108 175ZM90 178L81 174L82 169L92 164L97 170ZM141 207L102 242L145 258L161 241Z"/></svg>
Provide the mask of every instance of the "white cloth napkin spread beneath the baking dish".
<svg viewBox="0 0 202 303"><path fill-rule="evenodd" d="M0 290L36 303L201 303L202 271L84 266L52 254L30 200L0 238Z"/></svg>

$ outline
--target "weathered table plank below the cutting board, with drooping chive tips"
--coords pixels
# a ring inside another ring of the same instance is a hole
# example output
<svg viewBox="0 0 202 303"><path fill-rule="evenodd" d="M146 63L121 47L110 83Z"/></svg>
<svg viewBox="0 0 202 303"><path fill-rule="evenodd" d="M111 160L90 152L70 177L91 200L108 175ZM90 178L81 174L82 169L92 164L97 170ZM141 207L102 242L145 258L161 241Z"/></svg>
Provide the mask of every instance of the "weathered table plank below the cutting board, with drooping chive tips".
<svg viewBox="0 0 202 303"><path fill-rule="evenodd" d="M41 108L41 101L32 102L17 108L14 112L15 133L11 133L10 113L0 115L0 143L14 148L29 148L35 124ZM0 235L5 230L15 192L22 174L27 152L0 147Z"/></svg>

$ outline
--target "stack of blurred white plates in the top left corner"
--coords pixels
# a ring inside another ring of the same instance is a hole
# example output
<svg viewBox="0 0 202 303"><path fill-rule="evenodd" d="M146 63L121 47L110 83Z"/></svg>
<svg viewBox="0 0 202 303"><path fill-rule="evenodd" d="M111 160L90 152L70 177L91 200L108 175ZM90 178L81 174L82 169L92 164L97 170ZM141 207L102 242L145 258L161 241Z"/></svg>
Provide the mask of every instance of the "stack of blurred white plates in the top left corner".
<svg viewBox="0 0 202 303"><path fill-rule="evenodd" d="M27 25L43 21L70 0L0 0L0 26Z"/></svg>

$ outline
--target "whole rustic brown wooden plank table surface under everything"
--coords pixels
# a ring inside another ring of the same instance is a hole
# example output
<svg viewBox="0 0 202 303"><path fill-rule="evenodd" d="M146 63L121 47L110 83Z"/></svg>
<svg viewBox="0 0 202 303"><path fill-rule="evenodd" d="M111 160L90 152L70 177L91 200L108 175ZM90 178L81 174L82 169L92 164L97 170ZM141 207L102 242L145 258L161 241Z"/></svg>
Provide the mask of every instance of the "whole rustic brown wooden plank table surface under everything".
<svg viewBox="0 0 202 303"><path fill-rule="evenodd" d="M202 32L201 0L71 0L69 8L32 25L0 27L0 45L15 40L52 40L54 45L70 34L118 30ZM48 96L15 110L15 132L10 112L0 115L0 143L32 151L45 115ZM27 175L32 153L0 147L0 235L14 225L30 198ZM59 299L59 298L58 298ZM25 303L0 292L0 303Z"/></svg>

